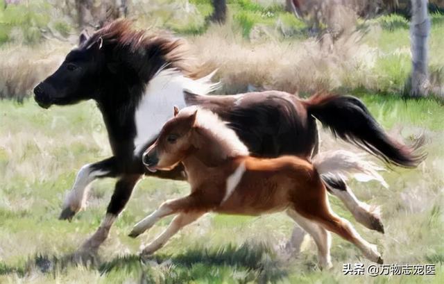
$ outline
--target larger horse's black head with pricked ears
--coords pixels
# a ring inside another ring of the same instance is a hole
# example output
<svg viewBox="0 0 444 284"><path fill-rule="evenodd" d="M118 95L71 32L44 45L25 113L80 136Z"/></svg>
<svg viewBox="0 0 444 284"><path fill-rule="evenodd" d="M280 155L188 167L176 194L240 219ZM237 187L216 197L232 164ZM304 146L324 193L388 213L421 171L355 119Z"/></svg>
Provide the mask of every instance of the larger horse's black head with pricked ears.
<svg viewBox="0 0 444 284"><path fill-rule="evenodd" d="M88 40L82 33L78 48L69 52L56 72L34 88L39 106L49 108L53 104L68 105L94 98L104 64L101 46L101 38Z"/></svg>

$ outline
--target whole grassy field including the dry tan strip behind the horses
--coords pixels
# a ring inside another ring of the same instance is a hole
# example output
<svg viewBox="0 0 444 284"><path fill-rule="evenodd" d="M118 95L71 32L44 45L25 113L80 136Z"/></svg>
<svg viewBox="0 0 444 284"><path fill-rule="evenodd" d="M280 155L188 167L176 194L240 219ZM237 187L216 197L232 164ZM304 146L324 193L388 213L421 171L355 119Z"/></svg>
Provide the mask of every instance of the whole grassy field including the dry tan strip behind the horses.
<svg viewBox="0 0 444 284"><path fill-rule="evenodd" d="M230 0L224 26L205 25L211 12L205 0L137 1L135 24L186 37L198 62L207 62L208 70L219 67L221 93L276 89L302 95L317 90L355 94L391 135L411 142L425 134L427 160L418 169L384 172L388 190L350 182L359 199L382 206L384 235L356 224L339 200L330 198L339 215L377 244L387 264L436 265L436 276L370 277L343 275L343 263L369 263L336 236L329 271L316 267L316 246L307 237L302 252L289 258L283 247L293 223L283 214L205 215L153 259L141 262L140 248L171 218L137 240L127 237L133 225L162 201L189 190L185 182L157 178L137 185L99 256L87 265L76 264L71 254L99 226L114 180L96 181L87 209L72 222L57 219L78 169L108 157L110 147L94 103L43 110L29 98L33 85L59 64L77 38L71 22L46 2L60 1L30 1L29 6L4 10L0 0L1 284L444 283L443 15L432 15L429 40L430 90L436 96L405 101L400 94L411 63L409 23L402 17L359 22L357 33L329 45L309 37L307 26L284 12L279 1ZM44 40L42 28L51 28L59 39ZM60 40L63 34L66 40ZM321 148L355 149L326 131Z"/></svg>

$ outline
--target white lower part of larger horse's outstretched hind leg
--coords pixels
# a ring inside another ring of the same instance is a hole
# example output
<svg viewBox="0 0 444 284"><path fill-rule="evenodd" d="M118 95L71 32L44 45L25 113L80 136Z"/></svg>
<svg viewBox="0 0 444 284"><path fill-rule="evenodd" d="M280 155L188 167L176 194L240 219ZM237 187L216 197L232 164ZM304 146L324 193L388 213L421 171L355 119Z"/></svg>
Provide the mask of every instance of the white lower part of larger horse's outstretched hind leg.
<svg viewBox="0 0 444 284"><path fill-rule="evenodd" d="M369 206L367 203L359 201L352 190L350 190L350 187L346 187L346 190L338 190L329 186L329 189L332 194L341 199L345 207L352 212L357 222L367 228L384 233L384 226L379 216L378 206Z"/></svg>

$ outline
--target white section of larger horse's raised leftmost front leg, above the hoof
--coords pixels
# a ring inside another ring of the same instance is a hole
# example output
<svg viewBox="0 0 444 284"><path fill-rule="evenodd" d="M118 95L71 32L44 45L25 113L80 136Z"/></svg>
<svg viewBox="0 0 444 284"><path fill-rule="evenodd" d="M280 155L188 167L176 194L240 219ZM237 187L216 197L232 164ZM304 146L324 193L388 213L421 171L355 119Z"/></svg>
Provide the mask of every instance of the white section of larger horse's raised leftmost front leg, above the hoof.
<svg viewBox="0 0 444 284"><path fill-rule="evenodd" d="M89 184L97 178L106 174L107 172L101 170L93 170L91 164L84 165L76 176L76 181L70 192L68 192L63 208L70 208L74 212L78 212L85 207L87 193L89 191Z"/></svg>

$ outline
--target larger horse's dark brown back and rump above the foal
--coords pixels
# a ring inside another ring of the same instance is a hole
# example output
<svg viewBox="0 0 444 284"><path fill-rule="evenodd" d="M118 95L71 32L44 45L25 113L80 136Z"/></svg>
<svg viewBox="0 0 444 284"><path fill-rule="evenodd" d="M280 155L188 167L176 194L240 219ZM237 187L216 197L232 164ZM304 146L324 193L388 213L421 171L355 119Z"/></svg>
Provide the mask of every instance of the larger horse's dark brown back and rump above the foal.
<svg viewBox="0 0 444 284"><path fill-rule="evenodd" d="M309 158L318 143L314 118L298 97L287 92L196 96L192 103L228 122L253 156Z"/></svg>

